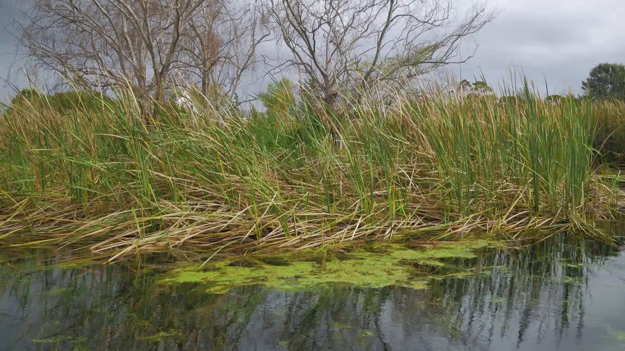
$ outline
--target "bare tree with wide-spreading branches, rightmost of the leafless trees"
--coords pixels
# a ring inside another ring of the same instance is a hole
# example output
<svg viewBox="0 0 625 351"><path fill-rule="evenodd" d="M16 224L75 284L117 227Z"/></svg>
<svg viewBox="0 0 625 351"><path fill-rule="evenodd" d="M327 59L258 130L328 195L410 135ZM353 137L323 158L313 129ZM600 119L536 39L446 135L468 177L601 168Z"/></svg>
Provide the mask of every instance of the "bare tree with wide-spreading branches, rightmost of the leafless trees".
<svg viewBox="0 0 625 351"><path fill-rule="evenodd" d="M289 52L272 71L296 67L332 109L346 89L466 62L462 40L496 16L486 4L459 16L452 0L269 0L264 11Z"/></svg>

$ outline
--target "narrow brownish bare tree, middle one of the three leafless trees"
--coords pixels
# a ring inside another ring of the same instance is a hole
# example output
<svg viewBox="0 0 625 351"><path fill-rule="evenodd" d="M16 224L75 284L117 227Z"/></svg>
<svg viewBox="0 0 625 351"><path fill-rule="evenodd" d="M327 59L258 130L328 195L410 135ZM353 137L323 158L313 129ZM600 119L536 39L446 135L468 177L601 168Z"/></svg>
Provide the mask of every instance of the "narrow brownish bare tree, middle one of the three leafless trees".
<svg viewBox="0 0 625 351"><path fill-rule="evenodd" d="M270 40L257 6L208 0L187 26L181 69L199 79L204 97L217 90L232 99L243 73L258 62L257 47Z"/></svg>

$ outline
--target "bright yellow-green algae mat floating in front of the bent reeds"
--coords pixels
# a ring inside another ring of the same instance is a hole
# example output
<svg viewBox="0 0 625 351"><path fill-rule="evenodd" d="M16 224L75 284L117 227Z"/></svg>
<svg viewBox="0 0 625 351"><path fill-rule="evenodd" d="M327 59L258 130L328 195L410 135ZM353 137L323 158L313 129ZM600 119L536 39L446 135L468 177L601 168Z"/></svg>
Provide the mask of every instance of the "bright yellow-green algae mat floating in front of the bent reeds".
<svg viewBox="0 0 625 351"><path fill-rule="evenodd" d="M330 286L351 285L381 288L390 285L426 289L431 273L422 274L420 266L444 267L444 259L472 259L476 250L492 246L486 240L451 242L426 249L401 244L384 244L375 252L357 249L340 257L279 255L253 261L224 261L198 270L196 265L181 265L160 280L162 284L206 284L207 292L224 294L234 287L264 284L284 292L311 291ZM457 272L457 277L481 270ZM449 274L445 274L450 276Z"/></svg>

